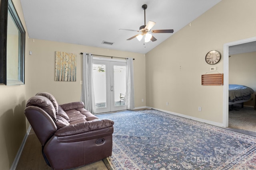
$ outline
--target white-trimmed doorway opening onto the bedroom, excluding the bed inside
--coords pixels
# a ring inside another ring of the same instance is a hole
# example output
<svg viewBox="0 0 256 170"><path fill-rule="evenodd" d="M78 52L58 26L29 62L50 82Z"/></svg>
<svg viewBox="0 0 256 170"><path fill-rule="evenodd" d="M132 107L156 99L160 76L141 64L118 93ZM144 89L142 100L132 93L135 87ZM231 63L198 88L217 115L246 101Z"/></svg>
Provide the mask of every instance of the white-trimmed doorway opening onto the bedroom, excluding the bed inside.
<svg viewBox="0 0 256 170"><path fill-rule="evenodd" d="M224 44L224 111L225 127L241 133L256 134L256 37ZM240 84L254 90L248 102L229 107L229 84ZM252 132L252 133L251 133Z"/></svg>

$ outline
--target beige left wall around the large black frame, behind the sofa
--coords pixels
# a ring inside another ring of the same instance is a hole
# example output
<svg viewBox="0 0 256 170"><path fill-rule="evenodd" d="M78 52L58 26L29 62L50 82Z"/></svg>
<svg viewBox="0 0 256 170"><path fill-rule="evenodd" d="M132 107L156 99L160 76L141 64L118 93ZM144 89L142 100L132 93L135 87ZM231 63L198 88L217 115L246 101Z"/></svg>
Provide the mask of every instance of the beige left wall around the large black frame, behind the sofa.
<svg viewBox="0 0 256 170"><path fill-rule="evenodd" d="M12 1L26 31L20 0ZM25 85L0 84L0 94L0 167L8 170L26 134L26 118L23 112L26 105Z"/></svg>

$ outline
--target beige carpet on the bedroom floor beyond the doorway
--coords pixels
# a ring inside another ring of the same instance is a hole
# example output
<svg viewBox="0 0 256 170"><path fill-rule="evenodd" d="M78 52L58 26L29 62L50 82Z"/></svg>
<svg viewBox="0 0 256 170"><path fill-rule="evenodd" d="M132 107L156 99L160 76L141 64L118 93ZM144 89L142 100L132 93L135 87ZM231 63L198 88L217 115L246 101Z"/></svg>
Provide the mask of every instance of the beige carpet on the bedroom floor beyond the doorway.
<svg viewBox="0 0 256 170"><path fill-rule="evenodd" d="M234 105L234 110L228 112L228 127L256 132L256 110Z"/></svg>

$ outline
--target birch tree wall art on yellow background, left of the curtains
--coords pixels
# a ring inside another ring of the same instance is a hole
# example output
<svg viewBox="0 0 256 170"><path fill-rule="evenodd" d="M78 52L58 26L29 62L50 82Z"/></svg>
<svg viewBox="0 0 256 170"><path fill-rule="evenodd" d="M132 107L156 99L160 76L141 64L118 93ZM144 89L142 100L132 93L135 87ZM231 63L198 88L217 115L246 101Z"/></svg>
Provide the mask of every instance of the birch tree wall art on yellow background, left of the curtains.
<svg viewBox="0 0 256 170"><path fill-rule="evenodd" d="M55 81L76 81L76 54L55 51Z"/></svg>

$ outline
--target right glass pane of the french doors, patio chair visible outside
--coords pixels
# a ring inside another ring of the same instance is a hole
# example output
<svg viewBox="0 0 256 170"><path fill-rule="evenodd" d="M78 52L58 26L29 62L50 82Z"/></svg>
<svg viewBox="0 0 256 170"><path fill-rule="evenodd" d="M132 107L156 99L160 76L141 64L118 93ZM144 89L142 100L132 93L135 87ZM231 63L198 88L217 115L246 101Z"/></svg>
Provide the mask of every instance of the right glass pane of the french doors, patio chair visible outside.
<svg viewBox="0 0 256 170"><path fill-rule="evenodd" d="M126 66L114 66L114 87L115 106L126 105Z"/></svg>

